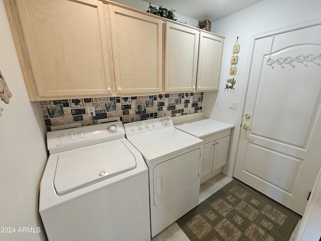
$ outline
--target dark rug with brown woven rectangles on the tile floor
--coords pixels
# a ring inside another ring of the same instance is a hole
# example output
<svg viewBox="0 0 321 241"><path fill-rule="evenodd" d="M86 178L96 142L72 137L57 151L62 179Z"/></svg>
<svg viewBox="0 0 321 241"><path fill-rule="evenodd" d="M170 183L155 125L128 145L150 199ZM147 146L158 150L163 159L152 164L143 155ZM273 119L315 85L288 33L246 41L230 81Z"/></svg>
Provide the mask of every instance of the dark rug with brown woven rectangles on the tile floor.
<svg viewBox="0 0 321 241"><path fill-rule="evenodd" d="M191 241L288 241L298 220L232 180L177 223Z"/></svg>

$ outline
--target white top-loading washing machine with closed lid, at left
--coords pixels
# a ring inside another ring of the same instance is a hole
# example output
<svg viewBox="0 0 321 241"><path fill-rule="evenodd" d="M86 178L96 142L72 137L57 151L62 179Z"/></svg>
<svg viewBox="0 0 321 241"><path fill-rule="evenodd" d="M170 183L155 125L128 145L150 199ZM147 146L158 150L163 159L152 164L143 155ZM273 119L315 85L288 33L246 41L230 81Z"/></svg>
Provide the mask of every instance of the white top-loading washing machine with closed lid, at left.
<svg viewBox="0 0 321 241"><path fill-rule="evenodd" d="M121 122L47 133L39 212L49 241L150 240L148 169Z"/></svg>

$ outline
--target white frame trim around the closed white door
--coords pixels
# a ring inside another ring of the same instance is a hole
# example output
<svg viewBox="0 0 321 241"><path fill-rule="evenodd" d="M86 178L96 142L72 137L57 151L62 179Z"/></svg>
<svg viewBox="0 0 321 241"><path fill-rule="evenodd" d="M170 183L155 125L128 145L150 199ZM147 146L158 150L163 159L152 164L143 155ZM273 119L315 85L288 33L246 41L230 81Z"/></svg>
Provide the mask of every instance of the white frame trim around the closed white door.
<svg viewBox="0 0 321 241"><path fill-rule="evenodd" d="M248 60L246 61L246 65L245 65L244 79L246 79L246 87L245 87L245 90L242 92L241 99L240 99L240 108L242 109L242 112L241 112L242 114L238 116L238 119L237 119L238 124L236 125L237 128L235 128L236 130L234 131L234 135L237 135L238 138L237 138L237 144L235 147L236 151L234 153L234 157L233 157L233 159L232 158L230 159L232 162L230 163L228 173L230 174L231 177L234 176L237 151L238 151L239 141L240 141L240 137L241 137L245 101L246 101L246 96L247 96L249 80L250 80L251 65L252 65L252 59L253 59L253 54L254 54L255 41L262 39L262 38L271 37L273 35L278 35L278 34L283 34L283 33L291 32L291 31L299 30L299 29L313 27L313 26L316 26L319 24L321 24L321 18L315 18L315 19L300 22L297 24L288 25L288 26L285 26L282 28L277 28L277 29L274 29L271 31L266 31L263 33L255 34L250 37L251 38L250 44L249 44L250 47L249 47L248 52L249 52L251 58L248 58Z"/></svg>

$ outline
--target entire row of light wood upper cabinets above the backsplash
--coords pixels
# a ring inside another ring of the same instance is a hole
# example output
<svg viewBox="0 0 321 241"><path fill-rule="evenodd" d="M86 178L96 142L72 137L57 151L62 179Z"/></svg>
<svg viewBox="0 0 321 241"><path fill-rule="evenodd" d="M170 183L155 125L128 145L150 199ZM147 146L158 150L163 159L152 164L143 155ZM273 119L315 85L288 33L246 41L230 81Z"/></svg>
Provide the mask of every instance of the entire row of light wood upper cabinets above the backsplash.
<svg viewBox="0 0 321 241"><path fill-rule="evenodd" d="M218 89L214 34L109 1L4 3L31 101Z"/></svg>

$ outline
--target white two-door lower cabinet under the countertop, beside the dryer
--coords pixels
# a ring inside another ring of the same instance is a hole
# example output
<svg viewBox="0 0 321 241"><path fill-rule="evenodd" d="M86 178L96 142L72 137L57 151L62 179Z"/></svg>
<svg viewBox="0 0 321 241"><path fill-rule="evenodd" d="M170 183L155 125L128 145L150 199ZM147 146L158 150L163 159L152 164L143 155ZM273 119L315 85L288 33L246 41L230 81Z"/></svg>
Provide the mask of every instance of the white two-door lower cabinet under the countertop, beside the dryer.
<svg viewBox="0 0 321 241"><path fill-rule="evenodd" d="M219 174L222 171L222 166L226 164L230 132L231 130L226 130L201 138L204 141L201 183Z"/></svg>

